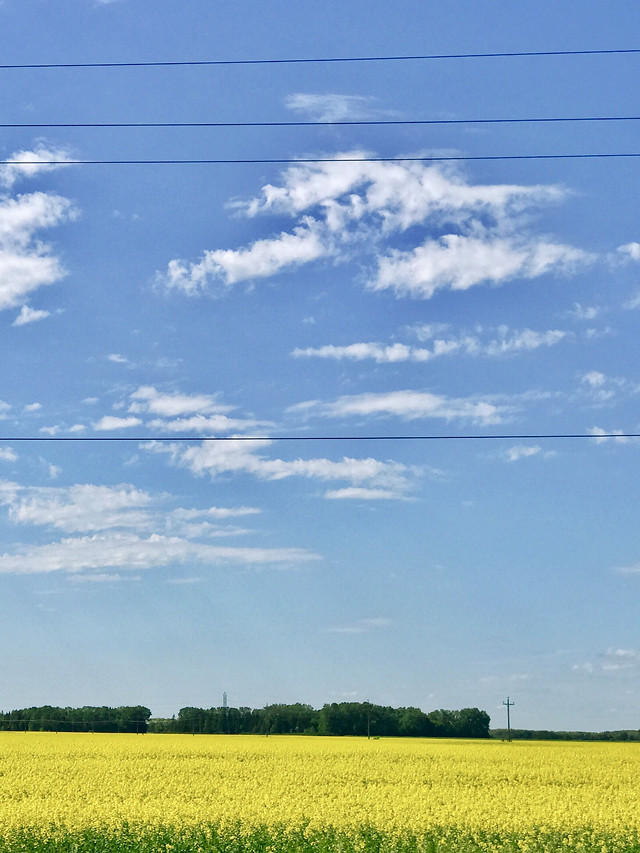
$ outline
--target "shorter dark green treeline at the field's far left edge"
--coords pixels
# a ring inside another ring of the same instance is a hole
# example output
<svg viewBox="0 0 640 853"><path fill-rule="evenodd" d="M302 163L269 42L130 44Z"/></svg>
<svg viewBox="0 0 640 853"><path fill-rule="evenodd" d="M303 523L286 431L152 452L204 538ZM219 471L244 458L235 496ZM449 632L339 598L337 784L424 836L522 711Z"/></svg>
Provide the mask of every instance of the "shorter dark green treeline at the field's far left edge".
<svg viewBox="0 0 640 853"><path fill-rule="evenodd" d="M21 708L0 713L0 731L29 732L130 732L149 730L151 711L142 705L119 708Z"/></svg>

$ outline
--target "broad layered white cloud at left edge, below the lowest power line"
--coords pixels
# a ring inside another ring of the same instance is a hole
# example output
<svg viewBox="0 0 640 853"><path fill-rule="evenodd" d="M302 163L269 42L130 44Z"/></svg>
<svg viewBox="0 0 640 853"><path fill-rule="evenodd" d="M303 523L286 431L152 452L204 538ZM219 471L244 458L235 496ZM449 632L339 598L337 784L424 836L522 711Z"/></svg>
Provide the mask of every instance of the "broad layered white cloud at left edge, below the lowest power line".
<svg viewBox="0 0 640 853"><path fill-rule="evenodd" d="M218 546L198 541L238 535L207 519L225 521L253 515L253 507L169 509L167 495L151 495L132 485L82 484L25 487L0 481L0 503L18 526L53 528L64 538L44 545L19 544L0 555L0 573L89 572L100 580L105 569L139 569L183 563L295 566L319 559L300 548ZM193 521L202 520L200 524ZM74 535L76 534L76 535ZM77 535L80 534L80 535ZM97 573L97 574L96 574ZM109 575L107 579L115 579Z"/></svg>

